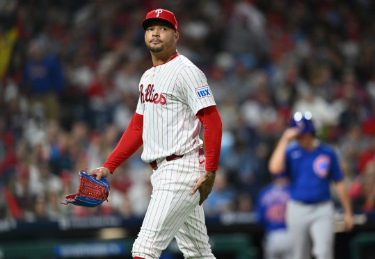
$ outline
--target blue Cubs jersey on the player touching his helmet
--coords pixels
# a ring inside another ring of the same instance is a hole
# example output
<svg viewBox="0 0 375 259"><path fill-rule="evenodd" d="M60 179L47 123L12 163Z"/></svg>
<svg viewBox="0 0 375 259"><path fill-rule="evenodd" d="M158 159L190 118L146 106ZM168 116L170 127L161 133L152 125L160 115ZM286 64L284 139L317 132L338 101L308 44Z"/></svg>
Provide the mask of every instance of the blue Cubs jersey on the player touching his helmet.
<svg viewBox="0 0 375 259"><path fill-rule="evenodd" d="M304 203L328 201L330 182L344 178L335 151L324 143L307 151L294 142L286 152L292 199Z"/></svg>

